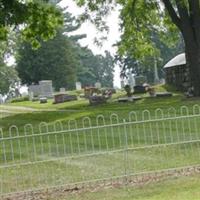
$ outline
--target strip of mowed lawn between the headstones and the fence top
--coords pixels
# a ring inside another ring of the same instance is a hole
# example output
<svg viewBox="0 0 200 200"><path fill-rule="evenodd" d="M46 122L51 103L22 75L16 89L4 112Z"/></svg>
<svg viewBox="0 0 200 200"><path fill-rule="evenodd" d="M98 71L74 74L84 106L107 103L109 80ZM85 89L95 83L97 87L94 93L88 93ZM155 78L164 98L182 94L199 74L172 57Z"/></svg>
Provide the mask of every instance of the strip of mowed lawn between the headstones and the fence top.
<svg viewBox="0 0 200 200"><path fill-rule="evenodd" d="M167 109L174 107L177 109L177 114L180 114L181 106L188 106L189 111L192 112L192 106L195 104L200 105L199 98L187 99L182 95L165 98L147 97L136 102L128 103L118 103L114 98L111 102L98 106L90 106L88 100L66 102L63 104L53 104L52 100L49 100L47 104L25 101L7 104L7 106L23 106L37 109L37 112L30 113L30 111L26 112L23 110L24 112L22 113L14 113L11 116L1 119L0 127L6 130L10 127L10 125L17 125L20 128L21 126L29 123L38 125L40 122L53 123L56 120L80 120L86 116L95 121L96 116L101 114L104 115L107 120L109 120L109 117L112 113L118 114L121 119L128 119L128 114L131 111L138 112L138 114L141 115L143 110L149 110L154 115L154 111L157 108L167 111Z"/></svg>

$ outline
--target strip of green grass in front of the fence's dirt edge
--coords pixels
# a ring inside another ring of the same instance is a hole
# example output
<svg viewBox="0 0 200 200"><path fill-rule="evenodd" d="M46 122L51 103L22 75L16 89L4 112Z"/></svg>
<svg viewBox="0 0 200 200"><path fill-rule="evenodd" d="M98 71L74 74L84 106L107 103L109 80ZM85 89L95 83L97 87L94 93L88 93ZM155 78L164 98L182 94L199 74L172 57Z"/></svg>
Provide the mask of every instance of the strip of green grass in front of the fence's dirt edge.
<svg viewBox="0 0 200 200"><path fill-rule="evenodd" d="M61 195L59 200L199 200L200 176L181 177L144 186L101 189ZM51 200L51 198L49 198Z"/></svg>

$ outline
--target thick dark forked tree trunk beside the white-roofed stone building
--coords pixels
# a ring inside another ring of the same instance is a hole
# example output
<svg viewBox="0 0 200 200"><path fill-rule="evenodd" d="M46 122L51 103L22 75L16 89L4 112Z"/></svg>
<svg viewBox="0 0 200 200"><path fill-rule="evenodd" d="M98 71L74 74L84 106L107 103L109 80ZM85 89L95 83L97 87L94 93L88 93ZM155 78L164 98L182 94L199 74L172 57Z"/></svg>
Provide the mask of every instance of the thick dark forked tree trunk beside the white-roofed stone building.
<svg viewBox="0 0 200 200"><path fill-rule="evenodd" d="M191 86L194 89L194 96L200 96L200 2L197 0L175 0L175 4L170 0L162 2L172 22L183 35Z"/></svg>

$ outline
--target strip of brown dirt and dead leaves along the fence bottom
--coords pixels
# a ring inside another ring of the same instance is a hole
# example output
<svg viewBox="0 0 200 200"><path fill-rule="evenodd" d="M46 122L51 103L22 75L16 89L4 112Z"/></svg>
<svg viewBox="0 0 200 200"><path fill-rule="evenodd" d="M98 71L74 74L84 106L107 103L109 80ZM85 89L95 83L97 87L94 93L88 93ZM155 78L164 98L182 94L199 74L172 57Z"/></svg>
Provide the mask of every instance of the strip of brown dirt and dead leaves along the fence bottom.
<svg viewBox="0 0 200 200"><path fill-rule="evenodd" d="M170 178L181 176L192 176L200 174L200 166L188 167L183 169L174 169L169 171L144 173L136 175L128 175L124 177L115 178L112 180L103 180L88 182L84 184L74 186L62 186L58 188L51 188L46 190L38 190L32 192L24 192L19 194L13 194L7 197L2 197L2 200L54 200L62 199L69 194L85 193L85 192L97 192L109 188L120 188L124 186L144 186L159 181L164 181Z"/></svg>

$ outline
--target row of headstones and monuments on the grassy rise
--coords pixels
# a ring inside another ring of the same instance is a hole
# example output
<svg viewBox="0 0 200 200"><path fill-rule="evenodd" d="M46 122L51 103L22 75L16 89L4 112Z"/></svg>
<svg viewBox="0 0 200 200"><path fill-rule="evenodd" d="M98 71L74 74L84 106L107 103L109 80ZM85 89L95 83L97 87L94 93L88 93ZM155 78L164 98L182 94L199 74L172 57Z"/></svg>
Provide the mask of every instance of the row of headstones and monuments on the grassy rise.
<svg viewBox="0 0 200 200"><path fill-rule="evenodd" d="M60 104L86 99L90 105L105 104L107 101L116 101L116 98L112 100L113 94L119 96L117 99L119 103L135 102L147 97L170 97L173 95L171 92L164 90L156 91L153 86L146 83L144 76L136 76L133 78L133 76L129 74L127 83L130 85L124 85L124 88L121 90L116 90L114 88L102 88L99 82L96 82L92 87L82 88L81 83L76 82L76 90L74 92L66 91L64 87L60 88L59 92L55 92L51 80L42 80L38 85L30 85L28 87L28 95L30 101L41 104L45 104L48 101L53 104ZM17 99L15 101L17 101Z"/></svg>

